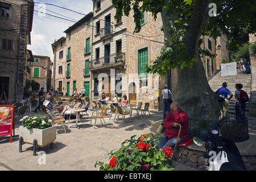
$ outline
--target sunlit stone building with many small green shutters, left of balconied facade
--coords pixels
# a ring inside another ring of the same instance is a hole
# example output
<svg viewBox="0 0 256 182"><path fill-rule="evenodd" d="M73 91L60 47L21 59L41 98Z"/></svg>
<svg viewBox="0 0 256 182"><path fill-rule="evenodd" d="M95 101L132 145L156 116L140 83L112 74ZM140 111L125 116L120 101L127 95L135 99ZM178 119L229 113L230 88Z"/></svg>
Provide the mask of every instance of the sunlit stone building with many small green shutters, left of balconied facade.
<svg viewBox="0 0 256 182"><path fill-rule="evenodd" d="M53 63L53 77L55 90L72 95L77 88L81 92L86 90L90 97L89 61L92 44L92 17L89 13L84 18L65 30L66 37L60 38L52 44L55 61Z"/></svg>

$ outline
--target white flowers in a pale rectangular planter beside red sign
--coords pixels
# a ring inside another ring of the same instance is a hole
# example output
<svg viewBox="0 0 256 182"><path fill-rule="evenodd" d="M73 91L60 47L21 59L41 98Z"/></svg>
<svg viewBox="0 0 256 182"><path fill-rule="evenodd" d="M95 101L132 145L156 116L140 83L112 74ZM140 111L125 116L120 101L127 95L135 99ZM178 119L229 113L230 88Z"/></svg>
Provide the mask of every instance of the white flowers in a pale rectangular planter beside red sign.
<svg viewBox="0 0 256 182"><path fill-rule="evenodd" d="M27 115L20 119L22 126L19 127L19 137L22 142L33 143L36 139L38 146L46 146L56 139L56 126L52 126L51 119L44 115Z"/></svg>

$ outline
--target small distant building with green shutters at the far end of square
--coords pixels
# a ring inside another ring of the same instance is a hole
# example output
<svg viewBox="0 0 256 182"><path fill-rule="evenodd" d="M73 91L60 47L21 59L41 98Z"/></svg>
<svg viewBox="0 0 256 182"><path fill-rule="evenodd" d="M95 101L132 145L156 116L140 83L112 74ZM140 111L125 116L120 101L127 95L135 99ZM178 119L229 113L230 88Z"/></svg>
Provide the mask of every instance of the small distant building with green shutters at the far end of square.
<svg viewBox="0 0 256 182"><path fill-rule="evenodd" d="M32 92L38 92L40 88L45 91L51 89L51 61L48 56L34 55L34 62L30 65L31 79L35 81Z"/></svg>

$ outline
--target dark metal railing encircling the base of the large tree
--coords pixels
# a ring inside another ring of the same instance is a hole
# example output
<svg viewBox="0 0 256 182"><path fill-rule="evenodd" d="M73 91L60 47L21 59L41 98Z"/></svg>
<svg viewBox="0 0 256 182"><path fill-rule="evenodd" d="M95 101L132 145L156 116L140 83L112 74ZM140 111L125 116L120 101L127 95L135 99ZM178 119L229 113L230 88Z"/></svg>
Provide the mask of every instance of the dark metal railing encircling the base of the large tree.
<svg viewBox="0 0 256 182"><path fill-rule="evenodd" d="M226 119L220 127L222 137L233 142L244 142L249 139L248 119L237 119L234 113L225 113ZM210 124L216 121L189 118L189 138L199 137L201 129L210 129Z"/></svg>

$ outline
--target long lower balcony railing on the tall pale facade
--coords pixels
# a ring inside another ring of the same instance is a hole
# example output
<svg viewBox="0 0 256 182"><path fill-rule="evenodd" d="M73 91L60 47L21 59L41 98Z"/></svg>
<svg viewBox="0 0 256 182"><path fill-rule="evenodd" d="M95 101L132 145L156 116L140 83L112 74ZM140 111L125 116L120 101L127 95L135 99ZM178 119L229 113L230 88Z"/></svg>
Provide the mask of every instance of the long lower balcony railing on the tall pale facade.
<svg viewBox="0 0 256 182"><path fill-rule="evenodd" d="M89 61L89 69L101 68L116 64L125 65L125 53L118 52L109 56L99 57L97 59Z"/></svg>

